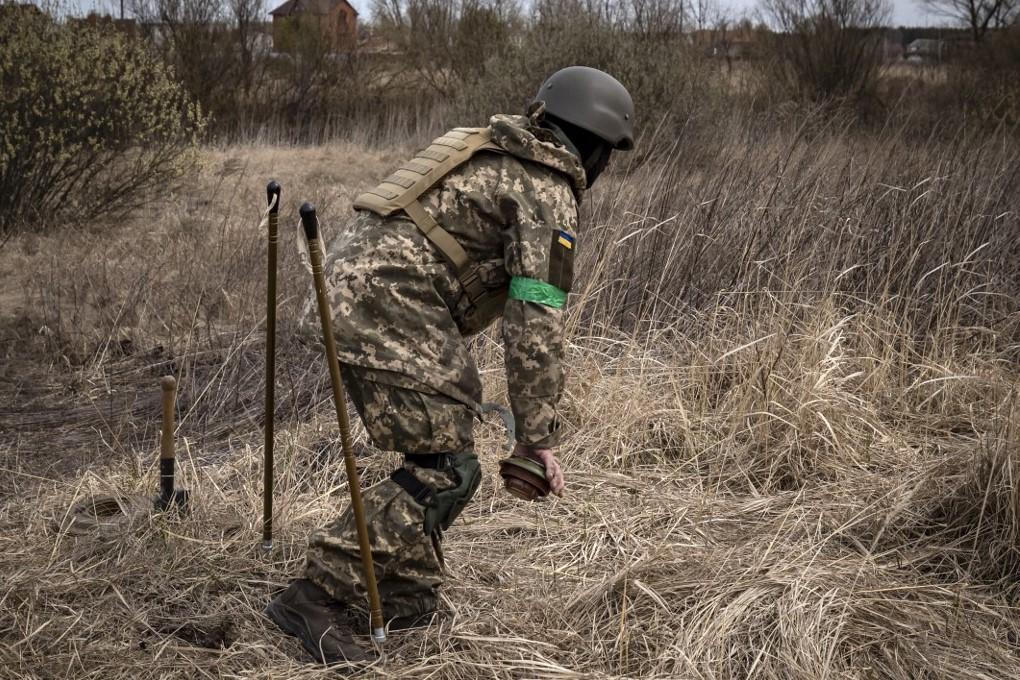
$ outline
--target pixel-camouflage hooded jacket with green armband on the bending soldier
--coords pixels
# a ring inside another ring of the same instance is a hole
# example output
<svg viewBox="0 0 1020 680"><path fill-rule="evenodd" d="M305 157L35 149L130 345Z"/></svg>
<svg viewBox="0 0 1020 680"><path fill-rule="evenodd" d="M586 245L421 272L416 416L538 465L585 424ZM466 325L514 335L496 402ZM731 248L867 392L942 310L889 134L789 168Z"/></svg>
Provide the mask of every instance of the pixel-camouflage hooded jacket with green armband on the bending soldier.
<svg viewBox="0 0 1020 680"><path fill-rule="evenodd" d="M555 446L584 171L527 117L497 115L490 127L507 153L476 154L421 203L482 264L488 286L509 287L502 331L517 439ZM341 361L478 408L480 380L461 337L479 328L467 327L460 282L413 222L358 211L327 247L326 266Z"/></svg>

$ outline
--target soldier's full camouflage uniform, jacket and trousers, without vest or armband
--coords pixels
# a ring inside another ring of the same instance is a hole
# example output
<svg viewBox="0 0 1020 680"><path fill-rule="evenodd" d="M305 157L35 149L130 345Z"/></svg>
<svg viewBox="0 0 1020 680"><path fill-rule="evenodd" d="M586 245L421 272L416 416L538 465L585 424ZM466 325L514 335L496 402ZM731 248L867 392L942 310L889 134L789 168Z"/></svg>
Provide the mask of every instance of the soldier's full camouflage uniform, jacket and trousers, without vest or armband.
<svg viewBox="0 0 1020 680"><path fill-rule="evenodd" d="M490 127L506 153L475 155L421 203L482 264L488 286L509 286L503 341L517 439L552 447L565 310L562 301L515 296L514 286L569 291L584 170L565 138L527 117L494 116ZM467 326L466 296L443 255L406 217L359 212L329 245L326 266L338 353L372 441L405 454L473 455L481 382L463 338L479 328ZM457 483L450 472L405 468L437 489ZM438 532L424 534L425 508L393 480L367 489L364 501L385 615L434 611L442 556ZM312 536L306 576L364 606L350 509Z"/></svg>

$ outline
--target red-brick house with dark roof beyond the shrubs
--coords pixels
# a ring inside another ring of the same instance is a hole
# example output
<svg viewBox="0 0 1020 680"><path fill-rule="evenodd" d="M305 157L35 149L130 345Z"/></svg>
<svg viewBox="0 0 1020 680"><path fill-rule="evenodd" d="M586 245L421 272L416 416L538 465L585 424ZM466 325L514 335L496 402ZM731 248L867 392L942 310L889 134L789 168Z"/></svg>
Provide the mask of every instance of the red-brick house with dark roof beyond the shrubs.
<svg viewBox="0 0 1020 680"><path fill-rule="evenodd" d="M289 52L295 41L321 38L335 52L349 52L358 40L358 10L347 0L287 0L273 9L272 47ZM318 36L308 32L317 31Z"/></svg>

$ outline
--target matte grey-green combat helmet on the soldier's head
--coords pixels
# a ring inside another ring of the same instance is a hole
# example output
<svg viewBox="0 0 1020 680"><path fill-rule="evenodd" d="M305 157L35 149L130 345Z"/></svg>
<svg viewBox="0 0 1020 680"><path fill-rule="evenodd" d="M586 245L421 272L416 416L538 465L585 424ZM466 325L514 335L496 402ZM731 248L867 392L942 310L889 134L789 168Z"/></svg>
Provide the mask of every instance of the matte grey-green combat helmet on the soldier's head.
<svg viewBox="0 0 1020 680"><path fill-rule="evenodd" d="M634 147L634 105L615 77L588 66L567 66L542 84L536 101L546 113L586 129L614 149Z"/></svg>

